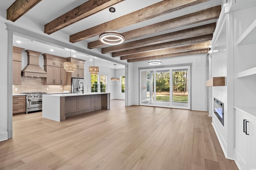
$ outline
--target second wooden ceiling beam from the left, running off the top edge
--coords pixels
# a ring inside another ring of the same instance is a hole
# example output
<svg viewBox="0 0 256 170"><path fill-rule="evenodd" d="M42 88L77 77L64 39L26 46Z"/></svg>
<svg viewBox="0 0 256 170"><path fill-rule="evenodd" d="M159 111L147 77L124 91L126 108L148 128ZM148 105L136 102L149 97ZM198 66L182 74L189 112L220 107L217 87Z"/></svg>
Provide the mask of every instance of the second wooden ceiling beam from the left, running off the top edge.
<svg viewBox="0 0 256 170"><path fill-rule="evenodd" d="M96 14L97 12L100 12L101 10L109 8L122 1L124 0L89 0L44 25L44 33L54 33L64 27L67 27L68 25L71 25L72 23Z"/></svg>

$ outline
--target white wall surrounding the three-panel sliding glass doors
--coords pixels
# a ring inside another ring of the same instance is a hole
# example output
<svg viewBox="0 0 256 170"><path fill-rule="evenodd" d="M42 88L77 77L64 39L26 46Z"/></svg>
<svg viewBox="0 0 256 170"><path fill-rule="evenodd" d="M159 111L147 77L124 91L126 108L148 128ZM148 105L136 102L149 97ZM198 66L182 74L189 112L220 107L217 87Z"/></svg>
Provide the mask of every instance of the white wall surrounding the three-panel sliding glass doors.
<svg viewBox="0 0 256 170"><path fill-rule="evenodd" d="M172 57L161 59L162 65L192 63L192 89L191 100L192 110L207 111L207 94L206 94L206 54L191 55L183 57ZM139 104L139 72L138 67L148 67L148 61L135 62L132 64L132 99L133 104ZM129 64L130 67L130 64ZM129 68L130 69L130 68ZM130 83L129 83L130 85ZM129 96L131 98L131 96Z"/></svg>

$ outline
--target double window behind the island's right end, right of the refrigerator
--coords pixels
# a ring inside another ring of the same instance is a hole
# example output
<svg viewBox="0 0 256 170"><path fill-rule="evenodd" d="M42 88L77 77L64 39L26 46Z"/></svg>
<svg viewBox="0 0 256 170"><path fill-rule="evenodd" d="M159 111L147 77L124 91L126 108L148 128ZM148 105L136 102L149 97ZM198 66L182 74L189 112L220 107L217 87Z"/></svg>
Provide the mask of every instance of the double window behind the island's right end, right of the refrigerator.
<svg viewBox="0 0 256 170"><path fill-rule="evenodd" d="M98 83L99 82L99 83ZM106 92L107 76L102 74L91 74L91 92ZM98 89L100 87L100 89Z"/></svg>

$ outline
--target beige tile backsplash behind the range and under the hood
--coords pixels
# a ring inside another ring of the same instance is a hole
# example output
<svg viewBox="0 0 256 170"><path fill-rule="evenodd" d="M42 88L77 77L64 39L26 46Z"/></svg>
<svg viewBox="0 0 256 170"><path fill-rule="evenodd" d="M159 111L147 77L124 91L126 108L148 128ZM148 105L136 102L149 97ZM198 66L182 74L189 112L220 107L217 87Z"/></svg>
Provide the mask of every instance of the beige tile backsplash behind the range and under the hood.
<svg viewBox="0 0 256 170"><path fill-rule="evenodd" d="M12 85L12 94L20 94L21 92L63 92L63 90L67 90L68 87L70 86L44 85L44 78L22 76L21 84Z"/></svg>

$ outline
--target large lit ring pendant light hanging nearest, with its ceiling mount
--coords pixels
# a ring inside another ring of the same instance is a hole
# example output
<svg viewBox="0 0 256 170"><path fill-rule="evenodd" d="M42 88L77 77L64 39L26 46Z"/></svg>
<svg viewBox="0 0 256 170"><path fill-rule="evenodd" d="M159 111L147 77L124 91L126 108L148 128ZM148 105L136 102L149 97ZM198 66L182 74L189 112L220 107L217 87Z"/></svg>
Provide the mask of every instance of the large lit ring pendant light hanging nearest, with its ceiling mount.
<svg viewBox="0 0 256 170"><path fill-rule="evenodd" d="M110 19L111 19L111 13L116 12L116 9L111 7L109 8L110 12ZM108 21L108 28L110 25L110 20ZM124 42L124 35L117 32L117 31L105 31L104 33L101 33L99 35L99 39L102 43L107 44L107 45L118 45Z"/></svg>

